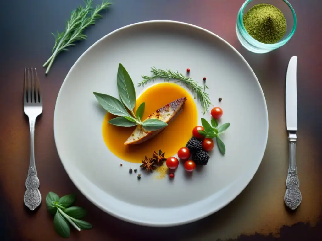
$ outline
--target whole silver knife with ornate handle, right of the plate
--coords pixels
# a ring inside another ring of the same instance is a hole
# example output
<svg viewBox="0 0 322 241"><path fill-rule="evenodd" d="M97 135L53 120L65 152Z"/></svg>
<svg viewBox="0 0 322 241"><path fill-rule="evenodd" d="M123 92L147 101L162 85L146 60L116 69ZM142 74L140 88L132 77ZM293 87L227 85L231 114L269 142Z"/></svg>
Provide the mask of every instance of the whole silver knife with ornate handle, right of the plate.
<svg viewBox="0 0 322 241"><path fill-rule="evenodd" d="M285 110L286 128L289 132L289 171L286 179L286 192L284 201L286 206L295 210L302 201L299 187L298 170L295 162L296 131L298 130L298 102L296 92L296 67L298 57L289 60L286 73Z"/></svg>

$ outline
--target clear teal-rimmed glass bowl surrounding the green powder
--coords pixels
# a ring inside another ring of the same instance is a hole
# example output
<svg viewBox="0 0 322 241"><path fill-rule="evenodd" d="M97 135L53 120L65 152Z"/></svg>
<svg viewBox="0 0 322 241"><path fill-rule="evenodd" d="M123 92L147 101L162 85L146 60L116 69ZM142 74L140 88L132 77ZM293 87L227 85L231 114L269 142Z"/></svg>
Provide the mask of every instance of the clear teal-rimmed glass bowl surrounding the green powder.
<svg viewBox="0 0 322 241"><path fill-rule="evenodd" d="M284 34L283 38L279 40L277 43L273 44L265 44L255 40L249 33L246 31L243 16L247 11L254 5L257 4L271 4L277 7L285 16L287 29L286 33ZM247 0L242 7L240 8L237 20L236 20L236 33L238 40L241 44L248 50L254 53L267 53L274 49L277 49L284 44L286 44L290 38L293 36L296 29L296 15L294 12L293 7L287 0Z"/></svg>

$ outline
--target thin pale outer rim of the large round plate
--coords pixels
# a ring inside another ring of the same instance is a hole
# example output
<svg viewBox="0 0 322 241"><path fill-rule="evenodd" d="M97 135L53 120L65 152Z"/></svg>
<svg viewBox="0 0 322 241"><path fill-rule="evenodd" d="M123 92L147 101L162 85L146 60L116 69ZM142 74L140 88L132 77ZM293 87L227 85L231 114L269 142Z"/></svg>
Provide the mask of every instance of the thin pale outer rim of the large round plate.
<svg viewBox="0 0 322 241"><path fill-rule="evenodd" d="M146 222L141 222L141 221L137 221L137 220L133 220L133 219L128 219L126 217L122 217L120 215L118 215L117 213L114 213L112 212L111 210L108 210L106 207L103 207L102 205L99 205L95 200L93 200L89 195L87 195L82 189L81 187L76 183L75 180L73 180L73 178L71 177L69 171L67 171L66 169L66 166L62 160L62 157L60 155L60 152L57 148L57 136L56 136L56 132L55 132L55 122L56 122L56 111L57 111L57 103L58 103L58 100L60 98L60 95L62 93L62 88L64 86L64 84L66 83L66 80L68 79L69 75L71 74L73 68L78 64L78 62L81 60L81 58L87 53L89 52L91 49L93 49L97 44L99 44L99 42L101 41L104 41L106 38L108 38L110 35L118 32L118 31L122 31L124 29L127 29L127 28L131 28L131 27L134 27L134 26L137 26L137 25L144 25L144 24L155 24L155 23L172 23L172 24L181 24L181 25L185 25L187 27L191 27L191 28L195 28L195 29L198 29L200 31L204 31L210 35L212 35L214 38L217 38L218 40L221 40L223 43L227 44L241 59L242 61L246 64L246 66L249 68L249 70L251 71L251 74L253 75L253 77L255 78L256 80L256 83L257 85L259 86L260 88L260 94L262 95L262 98L264 100L264 106L265 106L265 114L266 114L266 135L265 135L265 145L264 145L264 148L263 148L263 151L262 151L262 155L261 155L261 158L260 158L260 161L258 162L258 165L256 167L256 171L254 172L254 174L249 178L249 180L246 182L246 185L239 191L237 192L236 195L233 195L234 197L230 200L228 200L224 205L221 205L221 206L218 206L217 208L214 208L212 210L210 210L208 213L206 214L203 214L203 215L200 215L196 218L192 218L192 219L187 219L187 220L184 220L184 221L181 221L181 222L176 222L176 223L168 223L168 224L164 224L164 223L146 223ZM143 21L143 22L136 22L136 23L132 23L132 24L128 24L126 26L123 26L121 28L118 28L108 34L106 34L105 36L101 37L99 40L97 40L95 43L93 43L88 49L86 49L82 54L81 56L76 60L76 62L73 64L73 66L71 67L71 69L68 71L68 74L66 75L61 87L60 87L60 90L58 92L58 95L57 95L57 99L56 99L56 103L55 103L55 109L54 109L54 118L53 118L53 132L54 132L54 141L55 141L55 145L56 145L56 149L57 149L57 153L58 153L58 156L61 160L61 163L67 173L67 175L69 176L69 178L71 179L72 183L77 187L77 189L91 202L93 203L95 206L97 206L99 209L103 210L104 212L112 215L113 217L116 217L118 219L121 219L123 221L127 221L129 223L133 223L133 224L138 224L138 225L144 225L144 226L151 226L151 227L170 227L170 226L178 226L178 225L183 225L183 224L187 224L187 223L191 223L191 222L194 222L194 221L197 221L197 220L200 220L200 219L203 219L207 216L210 216L211 214L217 212L218 210L221 210L223 207L225 207L226 205L228 205L230 202L232 202L237 196L239 196L239 194L248 186L248 184L250 183L250 181L253 179L254 175L256 174L259 166L260 166L260 163L263 159L263 156L264 156L264 153L265 153L265 150L266 150L266 147L267 147L267 141L268 141L268 129L269 129L269 122L268 122L268 109L267 109L267 103L266 103L266 99L265 99L265 95L263 93L263 90L261 88L261 85L257 79L257 76L255 75L254 71L252 70L251 66L249 65L249 63L246 61L246 59L237 51L237 49L235 49L230 43L228 43L226 40L224 40L223 38L219 37L218 35L216 35L215 33L209 31L209 30L206 30L202 27L199 27L199 26L196 26L194 24L190 24L190 23L186 23L186 22L179 22L179 21L173 21L173 20L149 20L149 21Z"/></svg>

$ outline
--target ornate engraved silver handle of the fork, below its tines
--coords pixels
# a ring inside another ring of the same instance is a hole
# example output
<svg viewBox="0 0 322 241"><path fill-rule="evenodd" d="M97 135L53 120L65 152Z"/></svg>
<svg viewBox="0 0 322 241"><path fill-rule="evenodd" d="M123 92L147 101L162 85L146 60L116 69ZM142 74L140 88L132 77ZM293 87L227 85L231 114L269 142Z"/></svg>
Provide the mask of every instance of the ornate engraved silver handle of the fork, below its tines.
<svg viewBox="0 0 322 241"><path fill-rule="evenodd" d="M39 179L34 156L34 130L35 121L29 121L30 126L30 163L26 180L26 192L24 193L24 204L30 209L35 210L41 203L39 192Z"/></svg>

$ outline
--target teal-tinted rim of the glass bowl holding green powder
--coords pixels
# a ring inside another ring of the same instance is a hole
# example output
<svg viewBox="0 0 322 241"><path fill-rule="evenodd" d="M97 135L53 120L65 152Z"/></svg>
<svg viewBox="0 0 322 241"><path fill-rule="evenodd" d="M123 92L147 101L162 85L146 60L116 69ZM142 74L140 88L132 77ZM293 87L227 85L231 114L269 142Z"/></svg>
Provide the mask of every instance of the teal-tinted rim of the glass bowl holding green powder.
<svg viewBox="0 0 322 241"><path fill-rule="evenodd" d="M244 13L244 10L246 8L246 6L253 0L246 0L244 2L244 4L242 4L242 7L239 9L239 12L238 12L238 16L237 16L237 22L239 24L237 24L241 30L241 34L244 36L244 38L246 38L248 41L251 41L252 44L255 44L255 45L259 45L260 47L263 47L263 48L267 48L267 49L277 49L281 46L283 46L284 44L286 44L290 38L294 35L294 32L295 32L295 29L296 29L296 14L295 14L295 11L292 7L292 5L287 1L287 0L283 0L290 8L290 10L292 11L292 14L293 14L293 29L292 31L289 33L289 35L282 41L279 41L277 43L272 43L272 44L266 44L266 43L262 43L260 41L257 41L256 39L254 39L253 37L251 37L251 35L247 32L245 26L244 26L244 21L243 21L243 13Z"/></svg>

